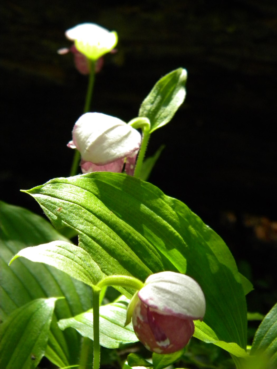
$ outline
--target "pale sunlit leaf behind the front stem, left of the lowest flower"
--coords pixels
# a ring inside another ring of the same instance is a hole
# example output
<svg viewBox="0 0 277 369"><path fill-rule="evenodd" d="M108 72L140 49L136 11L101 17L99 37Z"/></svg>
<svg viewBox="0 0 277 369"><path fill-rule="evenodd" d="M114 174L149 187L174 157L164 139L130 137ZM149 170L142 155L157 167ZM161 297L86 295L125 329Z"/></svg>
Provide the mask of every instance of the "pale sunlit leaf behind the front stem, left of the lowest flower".
<svg viewBox="0 0 277 369"><path fill-rule="evenodd" d="M131 324L124 327L126 310L129 300L120 296L111 304L102 305L99 308L99 334L100 345L107 348L119 348L124 344L137 342ZM76 315L73 318L62 319L58 322L59 327L75 328L82 336L93 339L93 310Z"/></svg>

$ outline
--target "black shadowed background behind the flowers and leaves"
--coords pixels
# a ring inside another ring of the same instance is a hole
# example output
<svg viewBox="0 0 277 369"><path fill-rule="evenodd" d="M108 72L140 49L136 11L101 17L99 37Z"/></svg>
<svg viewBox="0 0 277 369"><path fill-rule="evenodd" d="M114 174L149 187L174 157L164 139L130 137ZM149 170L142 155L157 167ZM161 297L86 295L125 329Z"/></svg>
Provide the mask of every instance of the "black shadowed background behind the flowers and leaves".
<svg viewBox="0 0 277 369"><path fill-rule="evenodd" d="M129 121L161 76L187 69L185 103L151 136L148 155L166 148L149 181L222 236L254 283L249 310L266 313L277 300L276 0L11 0L0 14L1 199L42 214L19 190L69 175L87 77L57 49L79 23L116 30L92 110Z"/></svg>

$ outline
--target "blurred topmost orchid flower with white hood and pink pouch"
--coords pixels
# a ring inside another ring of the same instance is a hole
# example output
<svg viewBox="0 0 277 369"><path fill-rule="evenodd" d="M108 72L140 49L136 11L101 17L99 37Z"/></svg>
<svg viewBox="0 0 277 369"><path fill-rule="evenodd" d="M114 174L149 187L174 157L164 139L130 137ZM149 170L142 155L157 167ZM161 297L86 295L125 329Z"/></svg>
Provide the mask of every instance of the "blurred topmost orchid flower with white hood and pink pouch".
<svg viewBox="0 0 277 369"><path fill-rule="evenodd" d="M112 52L117 44L117 33L109 32L106 28L93 23L79 24L65 32L65 36L74 41L71 48L62 48L58 54L72 52L74 63L78 71L89 74L89 59L96 62L95 72L99 72L103 65L104 54Z"/></svg>

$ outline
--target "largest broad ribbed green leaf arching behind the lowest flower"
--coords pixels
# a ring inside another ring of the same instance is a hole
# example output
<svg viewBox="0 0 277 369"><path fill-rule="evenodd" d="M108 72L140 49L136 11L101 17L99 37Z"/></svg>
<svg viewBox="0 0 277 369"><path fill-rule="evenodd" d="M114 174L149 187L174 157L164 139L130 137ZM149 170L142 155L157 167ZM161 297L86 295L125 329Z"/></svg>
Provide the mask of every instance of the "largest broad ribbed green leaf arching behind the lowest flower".
<svg viewBox="0 0 277 369"><path fill-rule="evenodd" d="M78 231L79 247L106 275L145 280L172 270L193 277L206 297L205 323L218 340L246 348L246 300L235 260L184 203L118 173L57 178L27 193L55 226Z"/></svg>

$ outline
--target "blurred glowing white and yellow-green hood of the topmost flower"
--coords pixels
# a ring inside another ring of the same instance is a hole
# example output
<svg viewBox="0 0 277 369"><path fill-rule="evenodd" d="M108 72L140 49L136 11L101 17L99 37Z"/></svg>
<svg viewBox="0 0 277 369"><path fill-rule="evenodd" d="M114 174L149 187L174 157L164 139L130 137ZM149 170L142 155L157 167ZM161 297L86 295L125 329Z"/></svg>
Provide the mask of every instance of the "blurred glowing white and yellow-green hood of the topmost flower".
<svg viewBox="0 0 277 369"><path fill-rule="evenodd" d="M117 44L117 33L93 23L83 23L65 32L74 41L76 49L88 59L96 61L110 52Z"/></svg>

